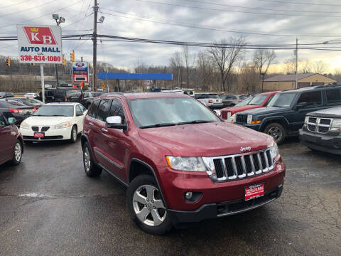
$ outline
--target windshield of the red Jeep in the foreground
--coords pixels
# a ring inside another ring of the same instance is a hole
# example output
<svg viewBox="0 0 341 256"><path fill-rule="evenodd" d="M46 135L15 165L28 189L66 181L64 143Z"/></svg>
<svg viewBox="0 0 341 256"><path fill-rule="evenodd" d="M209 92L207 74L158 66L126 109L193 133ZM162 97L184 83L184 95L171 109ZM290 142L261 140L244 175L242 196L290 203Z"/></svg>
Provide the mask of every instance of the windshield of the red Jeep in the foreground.
<svg viewBox="0 0 341 256"><path fill-rule="evenodd" d="M191 97L136 99L129 101L129 107L139 128L220 122L207 107Z"/></svg>

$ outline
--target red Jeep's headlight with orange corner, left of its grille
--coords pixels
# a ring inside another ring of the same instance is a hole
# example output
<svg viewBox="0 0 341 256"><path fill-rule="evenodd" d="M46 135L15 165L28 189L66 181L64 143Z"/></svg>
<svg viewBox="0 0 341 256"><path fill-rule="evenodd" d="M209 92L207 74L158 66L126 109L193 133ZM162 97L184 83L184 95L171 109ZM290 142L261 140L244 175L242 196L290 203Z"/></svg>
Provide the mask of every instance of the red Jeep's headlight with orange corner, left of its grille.
<svg viewBox="0 0 341 256"><path fill-rule="evenodd" d="M166 156L171 169L178 171L207 171L201 157Z"/></svg>

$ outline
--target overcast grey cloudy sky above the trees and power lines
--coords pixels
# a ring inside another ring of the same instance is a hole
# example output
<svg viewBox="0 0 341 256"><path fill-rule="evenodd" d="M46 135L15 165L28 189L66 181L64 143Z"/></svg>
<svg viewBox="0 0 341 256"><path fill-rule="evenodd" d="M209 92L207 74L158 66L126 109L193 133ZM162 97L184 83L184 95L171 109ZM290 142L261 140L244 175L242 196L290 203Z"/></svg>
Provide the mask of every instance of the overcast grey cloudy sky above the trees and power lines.
<svg viewBox="0 0 341 256"><path fill-rule="evenodd" d="M53 25L52 13L65 17L63 35L92 33L93 2L1 1L0 35L13 36L16 23ZM112 36L203 43L240 35L246 36L247 42L251 44L295 43L296 36L299 43L341 41L341 2L336 0L291 0L289 3L286 0L99 0L99 16L105 16L105 19L104 23L98 24L97 32ZM341 44L325 46L340 46L341 49ZM63 41L63 53L67 59L70 59L73 49L76 59L83 56L85 60L92 60L92 41ZM97 60L120 68L133 68L139 59L147 65L168 65L177 50L181 48L151 43L102 41L98 42ZM198 50L202 48L190 47L192 55ZM299 59L325 60L332 71L341 68L340 53L300 50ZM17 57L16 41L0 41L0 54ZM251 58L252 54L253 51L249 50L247 58ZM276 63L280 64L293 56L293 50L276 50L276 55Z"/></svg>

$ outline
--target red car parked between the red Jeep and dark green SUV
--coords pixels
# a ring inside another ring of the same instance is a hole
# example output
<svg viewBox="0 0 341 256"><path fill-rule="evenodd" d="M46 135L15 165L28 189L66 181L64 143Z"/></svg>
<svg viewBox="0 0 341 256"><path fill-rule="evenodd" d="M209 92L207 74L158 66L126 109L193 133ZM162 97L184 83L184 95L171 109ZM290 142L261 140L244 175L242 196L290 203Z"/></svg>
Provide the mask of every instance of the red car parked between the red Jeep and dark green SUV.
<svg viewBox="0 0 341 256"><path fill-rule="evenodd" d="M222 115L221 117L228 122L234 122L237 113L245 110L253 110L259 107L266 107L272 97L274 97L274 95L276 95L277 93L278 92L264 92L256 95L256 97L247 97L246 105L236 105L234 107L226 107L220 110L220 113Z"/></svg>

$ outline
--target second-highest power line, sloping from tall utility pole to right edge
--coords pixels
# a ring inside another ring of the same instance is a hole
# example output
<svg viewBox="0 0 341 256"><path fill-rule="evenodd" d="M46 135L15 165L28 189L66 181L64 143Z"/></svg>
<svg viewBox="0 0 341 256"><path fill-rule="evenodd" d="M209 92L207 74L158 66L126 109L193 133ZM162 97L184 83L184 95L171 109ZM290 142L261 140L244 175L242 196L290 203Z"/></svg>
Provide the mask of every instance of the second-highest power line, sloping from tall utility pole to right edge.
<svg viewBox="0 0 341 256"><path fill-rule="evenodd" d="M130 14L126 14L124 12L121 12L121 11L114 11L114 10L111 10L111 9L104 9L104 10L108 10L108 11L113 11L115 13L119 13L119 14L125 14L125 15L129 15ZM326 36L328 37L337 37L339 38L340 37L340 34L337 35L332 35L332 36L329 36L329 35L323 35L323 36L318 36L318 35L293 35L293 34L277 34L277 33L261 33L261 32L249 32L249 31L240 31L240 30L237 30L237 29L222 29L222 28L210 28L210 27L204 27L204 26L198 26L196 24L193 24L193 23L179 23L179 22L176 22L176 21L167 21L167 20L163 20L163 19L160 19L158 18L158 20L160 21L155 21L155 20L151 20L150 18L143 18L141 16L137 16L138 18L135 18L135 17L129 17L129 16L122 16L122 15L118 15L118 14L109 14L107 12L103 12L101 11L102 14L107 14L107 15L110 15L110 16L117 16L117 17L122 17L122 18L130 18L130 19L134 19L134 20L139 20L139 21L148 21L148 22L153 22L153 23L161 23L161 24L165 24L165 25L171 25L171 26L183 26L183 27L187 27L187 28L200 28L200 29L205 29L205 30L211 30L211 31L222 31L222 32L228 32L228 33L242 33L242 34L249 34L249 35L261 35L261 36L290 36L290 37L297 37L297 36L300 36L300 37L323 37L325 38Z"/></svg>

